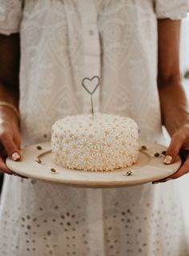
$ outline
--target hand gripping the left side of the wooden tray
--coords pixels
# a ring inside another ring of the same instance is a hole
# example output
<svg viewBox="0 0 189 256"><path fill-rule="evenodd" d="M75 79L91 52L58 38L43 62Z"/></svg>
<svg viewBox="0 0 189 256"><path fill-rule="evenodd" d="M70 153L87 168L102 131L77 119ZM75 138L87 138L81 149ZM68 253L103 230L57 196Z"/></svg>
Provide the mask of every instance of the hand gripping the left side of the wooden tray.
<svg viewBox="0 0 189 256"><path fill-rule="evenodd" d="M18 118L11 109L2 107L0 109L0 171L14 174L6 167L6 157L18 161L21 139L19 134Z"/></svg>

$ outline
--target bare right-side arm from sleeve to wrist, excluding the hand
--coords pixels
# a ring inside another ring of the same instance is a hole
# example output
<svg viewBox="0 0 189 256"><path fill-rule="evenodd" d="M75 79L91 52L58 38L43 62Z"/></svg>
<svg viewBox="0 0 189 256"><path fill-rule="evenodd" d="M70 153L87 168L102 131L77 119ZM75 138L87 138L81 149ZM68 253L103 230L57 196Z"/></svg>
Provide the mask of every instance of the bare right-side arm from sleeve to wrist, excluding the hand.
<svg viewBox="0 0 189 256"><path fill-rule="evenodd" d="M179 72L180 21L159 19L158 86L163 124L174 134L189 122L187 97Z"/></svg>

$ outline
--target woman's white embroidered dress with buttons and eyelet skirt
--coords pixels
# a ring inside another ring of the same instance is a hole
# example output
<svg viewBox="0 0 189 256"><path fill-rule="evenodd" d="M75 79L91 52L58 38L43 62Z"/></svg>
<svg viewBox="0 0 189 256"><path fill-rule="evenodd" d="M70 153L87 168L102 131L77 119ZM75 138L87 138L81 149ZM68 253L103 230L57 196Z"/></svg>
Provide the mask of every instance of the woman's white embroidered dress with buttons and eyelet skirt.
<svg viewBox="0 0 189 256"><path fill-rule="evenodd" d="M0 32L21 35L22 143L50 140L68 114L90 112L85 76L100 76L94 111L133 118L162 138L157 18L181 19L187 1L0 0ZM6 176L0 255L188 256L176 182L86 189Z"/></svg>

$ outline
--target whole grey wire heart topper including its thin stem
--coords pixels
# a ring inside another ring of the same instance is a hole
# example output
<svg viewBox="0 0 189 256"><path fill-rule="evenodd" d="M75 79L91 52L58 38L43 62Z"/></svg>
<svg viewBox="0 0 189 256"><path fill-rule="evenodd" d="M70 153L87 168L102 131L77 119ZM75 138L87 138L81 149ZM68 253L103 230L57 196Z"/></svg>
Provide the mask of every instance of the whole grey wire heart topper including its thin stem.
<svg viewBox="0 0 189 256"><path fill-rule="evenodd" d="M96 84L92 83L94 80L97 80ZM85 77L82 79L82 87L86 90L87 93L90 94L91 113L92 113L93 119L94 119L93 94L95 93L96 89L98 89L99 85L100 85L99 76L93 76L92 78Z"/></svg>

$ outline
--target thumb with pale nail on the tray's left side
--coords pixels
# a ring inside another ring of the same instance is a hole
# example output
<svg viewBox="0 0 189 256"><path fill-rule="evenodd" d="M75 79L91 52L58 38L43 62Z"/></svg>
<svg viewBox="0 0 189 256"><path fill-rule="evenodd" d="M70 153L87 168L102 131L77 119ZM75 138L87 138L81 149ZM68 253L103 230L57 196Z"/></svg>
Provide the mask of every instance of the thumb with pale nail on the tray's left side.
<svg viewBox="0 0 189 256"><path fill-rule="evenodd" d="M1 142L10 159L13 159L14 161L16 161L21 158L19 155L19 149L14 143L13 138L10 134L6 134L6 133L2 134Z"/></svg>

